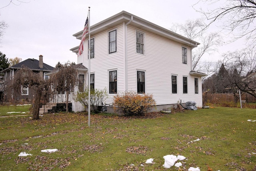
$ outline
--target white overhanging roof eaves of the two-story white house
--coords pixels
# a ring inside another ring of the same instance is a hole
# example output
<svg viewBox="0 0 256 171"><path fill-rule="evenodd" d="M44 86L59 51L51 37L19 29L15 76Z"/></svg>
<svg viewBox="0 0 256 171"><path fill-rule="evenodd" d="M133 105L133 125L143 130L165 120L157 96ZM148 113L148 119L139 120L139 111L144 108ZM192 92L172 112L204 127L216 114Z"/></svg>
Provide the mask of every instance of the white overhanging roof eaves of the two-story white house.
<svg viewBox="0 0 256 171"><path fill-rule="evenodd" d="M145 30L147 32L156 34L158 36L167 38L174 42L178 42L185 46L195 48L197 45L200 44L194 40L190 40L189 38L181 36L175 32L172 32L166 28L158 26L152 22L144 20L144 19L142 19L138 16L135 16L133 14L130 14L126 11L122 11L110 18L107 18L106 20L103 20L97 24L94 24L93 26L90 26L90 35L94 36L100 32L108 30L114 26L117 26L122 23L128 23L128 22L130 22L129 23L130 26L134 26L136 28L139 28L139 29ZM82 32L83 32L83 30L81 30L80 32L77 32L76 34L73 34L73 36L75 36L76 39L81 40ZM86 35L86 38L88 38L88 34ZM72 50L72 52L76 52L76 51L78 51L78 46L76 46L70 50Z"/></svg>

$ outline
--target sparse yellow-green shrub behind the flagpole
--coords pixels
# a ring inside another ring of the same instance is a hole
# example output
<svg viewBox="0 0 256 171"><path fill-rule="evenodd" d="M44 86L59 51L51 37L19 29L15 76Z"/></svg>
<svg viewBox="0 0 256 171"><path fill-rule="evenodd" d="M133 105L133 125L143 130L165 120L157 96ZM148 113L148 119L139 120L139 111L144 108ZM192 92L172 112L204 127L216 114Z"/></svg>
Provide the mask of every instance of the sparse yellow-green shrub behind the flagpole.
<svg viewBox="0 0 256 171"><path fill-rule="evenodd" d="M85 88L83 92L77 92L75 101L79 101L84 106L88 105L88 87ZM108 97L106 88L103 90L99 89L90 89L90 105L91 111L94 113L99 112L99 106L103 104L103 101Z"/></svg>

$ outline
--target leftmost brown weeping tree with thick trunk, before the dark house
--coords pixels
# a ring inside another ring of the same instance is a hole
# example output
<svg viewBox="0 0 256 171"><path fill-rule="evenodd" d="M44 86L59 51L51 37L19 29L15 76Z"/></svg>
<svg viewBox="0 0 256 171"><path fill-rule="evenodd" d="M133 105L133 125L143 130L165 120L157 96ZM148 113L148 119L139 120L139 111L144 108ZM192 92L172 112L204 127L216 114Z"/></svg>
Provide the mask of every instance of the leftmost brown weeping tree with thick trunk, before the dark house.
<svg viewBox="0 0 256 171"><path fill-rule="evenodd" d="M29 68L22 67L15 72L14 78L6 86L6 99L18 99L22 95L22 89L28 88L34 92L32 101L33 119L39 119L39 109L41 107L41 98L47 93L46 82L40 73L35 73Z"/></svg>

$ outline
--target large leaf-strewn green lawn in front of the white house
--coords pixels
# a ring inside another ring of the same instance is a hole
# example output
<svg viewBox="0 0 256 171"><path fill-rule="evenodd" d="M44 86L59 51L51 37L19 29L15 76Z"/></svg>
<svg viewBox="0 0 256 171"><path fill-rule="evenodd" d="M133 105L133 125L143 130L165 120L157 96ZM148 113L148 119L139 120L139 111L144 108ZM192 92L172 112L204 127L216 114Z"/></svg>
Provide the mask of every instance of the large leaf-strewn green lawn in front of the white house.
<svg viewBox="0 0 256 171"><path fill-rule="evenodd" d="M247 120L256 120L255 114L256 109L216 107L140 118L91 115L90 127L83 113L0 118L0 170L178 170L162 167L163 156L172 154L187 157L182 171L205 171L208 165L213 171L251 171L256 122ZM32 156L18 157L23 151ZM150 158L154 164L145 163Z"/></svg>

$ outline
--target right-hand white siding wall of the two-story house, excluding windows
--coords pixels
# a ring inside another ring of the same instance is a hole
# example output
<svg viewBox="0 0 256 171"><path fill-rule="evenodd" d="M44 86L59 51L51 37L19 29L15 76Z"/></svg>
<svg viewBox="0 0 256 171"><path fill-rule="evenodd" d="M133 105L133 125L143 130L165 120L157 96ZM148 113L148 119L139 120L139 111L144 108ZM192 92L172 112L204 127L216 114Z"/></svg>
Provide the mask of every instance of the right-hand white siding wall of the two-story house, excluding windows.
<svg viewBox="0 0 256 171"><path fill-rule="evenodd" d="M198 91L194 91L194 78L190 76L191 54L187 48L187 64L182 64L182 45L143 30L144 54L136 53L136 28L128 27L128 91L137 91L137 70L145 71L145 91L153 94L156 105L196 101L202 107L202 85L198 77ZM172 94L171 76L177 76L178 92ZM183 93L183 76L188 77L188 93Z"/></svg>

